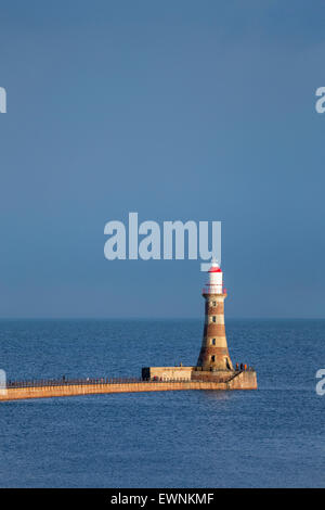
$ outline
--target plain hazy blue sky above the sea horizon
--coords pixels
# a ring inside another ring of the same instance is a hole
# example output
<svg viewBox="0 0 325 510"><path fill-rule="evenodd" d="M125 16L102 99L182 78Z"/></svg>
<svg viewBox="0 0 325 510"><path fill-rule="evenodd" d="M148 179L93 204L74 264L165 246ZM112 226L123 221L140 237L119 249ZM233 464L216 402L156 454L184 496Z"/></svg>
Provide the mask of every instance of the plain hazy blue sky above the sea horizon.
<svg viewBox="0 0 325 510"><path fill-rule="evenodd" d="M2 3L0 317L204 314L199 260L104 227L222 221L227 317L324 318L325 4Z"/></svg>

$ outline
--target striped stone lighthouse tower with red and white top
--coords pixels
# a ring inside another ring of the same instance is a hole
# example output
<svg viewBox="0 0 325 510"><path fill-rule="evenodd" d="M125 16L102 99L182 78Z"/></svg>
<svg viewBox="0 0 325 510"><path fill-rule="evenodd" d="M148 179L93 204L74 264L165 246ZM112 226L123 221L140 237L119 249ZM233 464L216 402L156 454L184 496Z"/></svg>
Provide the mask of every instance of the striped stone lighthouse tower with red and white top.
<svg viewBox="0 0 325 510"><path fill-rule="evenodd" d="M234 370L227 350L224 330L226 291L223 289L222 271L217 264L208 271L209 282L203 290L205 298L205 328L197 367L204 371Z"/></svg>

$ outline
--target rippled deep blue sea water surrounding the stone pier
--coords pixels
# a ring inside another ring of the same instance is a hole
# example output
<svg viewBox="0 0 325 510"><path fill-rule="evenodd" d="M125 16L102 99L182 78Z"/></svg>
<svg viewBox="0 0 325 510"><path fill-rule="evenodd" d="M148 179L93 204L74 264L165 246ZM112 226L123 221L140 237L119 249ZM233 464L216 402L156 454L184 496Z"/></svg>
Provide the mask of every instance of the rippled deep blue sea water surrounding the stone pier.
<svg viewBox="0 0 325 510"><path fill-rule="evenodd" d="M2 320L9 379L140 375L196 362L200 320ZM323 320L229 320L256 392L0 404L1 487L324 487Z"/></svg>

